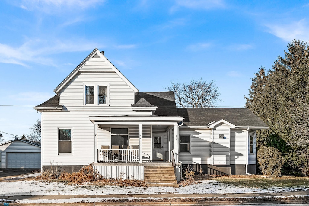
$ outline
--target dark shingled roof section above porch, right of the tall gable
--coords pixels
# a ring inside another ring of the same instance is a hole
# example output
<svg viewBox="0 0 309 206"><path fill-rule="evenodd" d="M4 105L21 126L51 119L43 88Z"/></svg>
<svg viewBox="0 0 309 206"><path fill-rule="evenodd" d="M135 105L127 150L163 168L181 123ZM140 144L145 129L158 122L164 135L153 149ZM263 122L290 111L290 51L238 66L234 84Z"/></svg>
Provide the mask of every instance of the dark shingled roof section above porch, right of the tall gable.
<svg viewBox="0 0 309 206"><path fill-rule="evenodd" d="M135 104L132 106L138 105L142 99L150 105L158 107L154 114L156 116L177 116L174 92L139 92L135 96ZM149 107L146 106L146 103L139 105Z"/></svg>

